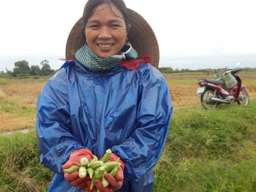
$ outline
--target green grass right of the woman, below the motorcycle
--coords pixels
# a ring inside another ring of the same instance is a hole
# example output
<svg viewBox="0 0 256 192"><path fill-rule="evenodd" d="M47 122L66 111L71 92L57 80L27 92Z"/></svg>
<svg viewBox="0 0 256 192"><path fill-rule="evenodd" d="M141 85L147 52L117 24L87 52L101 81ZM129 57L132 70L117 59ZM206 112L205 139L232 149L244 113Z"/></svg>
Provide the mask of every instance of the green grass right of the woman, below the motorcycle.
<svg viewBox="0 0 256 192"><path fill-rule="evenodd" d="M255 191L255 108L175 109L154 191Z"/></svg>

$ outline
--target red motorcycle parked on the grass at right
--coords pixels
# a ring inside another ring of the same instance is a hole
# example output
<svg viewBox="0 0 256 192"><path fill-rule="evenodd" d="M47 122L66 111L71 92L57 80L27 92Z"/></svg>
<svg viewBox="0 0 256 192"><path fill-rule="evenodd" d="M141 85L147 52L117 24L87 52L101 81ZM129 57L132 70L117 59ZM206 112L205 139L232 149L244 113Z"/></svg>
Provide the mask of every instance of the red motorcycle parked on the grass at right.
<svg viewBox="0 0 256 192"><path fill-rule="evenodd" d="M215 109L220 104L233 104L246 106L249 103L249 95L242 80L236 74L241 71L238 68L227 70L215 79L198 79L197 97L201 97L201 104L205 109Z"/></svg>

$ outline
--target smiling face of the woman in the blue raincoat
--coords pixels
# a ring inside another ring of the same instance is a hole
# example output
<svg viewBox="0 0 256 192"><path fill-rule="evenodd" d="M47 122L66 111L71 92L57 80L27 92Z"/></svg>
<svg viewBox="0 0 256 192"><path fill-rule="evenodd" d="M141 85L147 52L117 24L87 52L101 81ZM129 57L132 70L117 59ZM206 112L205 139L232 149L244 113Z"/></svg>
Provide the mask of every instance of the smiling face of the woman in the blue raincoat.
<svg viewBox="0 0 256 192"><path fill-rule="evenodd" d="M101 4L86 24L86 42L97 56L107 58L119 54L125 44L127 31L120 10L114 5L110 8L108 4Z"/></svg>

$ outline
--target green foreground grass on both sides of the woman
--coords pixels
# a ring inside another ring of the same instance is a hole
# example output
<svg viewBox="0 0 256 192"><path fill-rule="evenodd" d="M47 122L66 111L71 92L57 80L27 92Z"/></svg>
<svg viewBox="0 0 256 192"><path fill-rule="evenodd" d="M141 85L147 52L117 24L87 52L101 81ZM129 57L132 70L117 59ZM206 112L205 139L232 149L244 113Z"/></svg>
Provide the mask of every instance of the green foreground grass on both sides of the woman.
<svg viewBox="0 0 256 192"><path fill-rule="evenodd" d="M255 191L255 108L256 99L211 111L174 109L154 191ZM35 129L1 136L0 146L3 191L46 191L51 172L39 163Z"/></svg>

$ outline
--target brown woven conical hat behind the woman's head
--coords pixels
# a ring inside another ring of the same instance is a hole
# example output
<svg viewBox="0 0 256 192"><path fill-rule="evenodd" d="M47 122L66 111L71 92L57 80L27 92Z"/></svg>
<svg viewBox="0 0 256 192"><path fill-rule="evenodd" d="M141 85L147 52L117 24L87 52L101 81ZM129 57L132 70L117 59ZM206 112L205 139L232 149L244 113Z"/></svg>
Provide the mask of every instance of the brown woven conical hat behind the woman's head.
<svg viewBox="0 0 256 192"><path fill-rule="evenodd" d="M138 52L138 59L143 59L147 55L151 65L158 68L159 65L159 47L157 38L148 24L147 20L140 14L127 8L131 29L127 35L128 41ZM83 31L81 31L81 19L71 29L66 44L66 59L75 60L75 54L78 49L86 43Z"/></svg>

